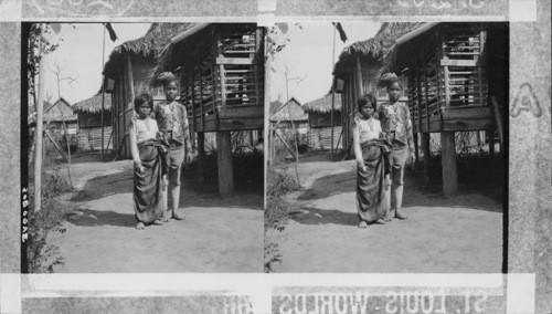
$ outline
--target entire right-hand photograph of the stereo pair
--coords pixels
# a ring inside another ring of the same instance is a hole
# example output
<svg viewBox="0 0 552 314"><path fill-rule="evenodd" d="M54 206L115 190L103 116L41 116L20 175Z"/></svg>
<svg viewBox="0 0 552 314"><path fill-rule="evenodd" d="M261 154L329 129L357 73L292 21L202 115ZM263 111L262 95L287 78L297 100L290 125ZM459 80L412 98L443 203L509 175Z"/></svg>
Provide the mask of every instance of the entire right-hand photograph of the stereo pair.
<svg viewBox="0 0 552 314"><path fill-rule="evenodd" d="M270 31L266 272L499 273L509 24Z"/></svg>

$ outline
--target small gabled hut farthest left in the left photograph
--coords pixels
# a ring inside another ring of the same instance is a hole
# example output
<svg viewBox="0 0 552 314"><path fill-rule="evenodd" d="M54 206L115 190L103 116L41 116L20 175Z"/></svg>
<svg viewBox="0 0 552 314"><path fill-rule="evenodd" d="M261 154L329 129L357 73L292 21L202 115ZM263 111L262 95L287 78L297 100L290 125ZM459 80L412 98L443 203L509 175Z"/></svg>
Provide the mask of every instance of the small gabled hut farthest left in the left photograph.
<svg viewBox="0 0 552 314"><path fill-rule="evenodd" d="M68 145L72 150L76 149L76 130L77 130L77 115L67 101L63 97L57 100L54 104L44 104L44 130L63 148ZM67 129L67 137L65 137L65 127Z"/></svg>

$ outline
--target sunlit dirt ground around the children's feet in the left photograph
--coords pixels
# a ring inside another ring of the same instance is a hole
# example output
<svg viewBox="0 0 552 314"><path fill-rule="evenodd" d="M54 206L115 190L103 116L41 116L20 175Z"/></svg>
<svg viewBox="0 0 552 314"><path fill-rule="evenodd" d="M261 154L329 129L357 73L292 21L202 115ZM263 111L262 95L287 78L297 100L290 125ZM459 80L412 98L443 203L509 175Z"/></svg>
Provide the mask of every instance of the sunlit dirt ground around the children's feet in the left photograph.
<svg viewBox="0 0 552 314"><path fill-rule="evenodd" d="M56 273L262 272L263 197L187 186L180 195L185 220L135 229L132 161L83 157L72 165L75 209L66 232L51 241L64 264Z"/></svg>

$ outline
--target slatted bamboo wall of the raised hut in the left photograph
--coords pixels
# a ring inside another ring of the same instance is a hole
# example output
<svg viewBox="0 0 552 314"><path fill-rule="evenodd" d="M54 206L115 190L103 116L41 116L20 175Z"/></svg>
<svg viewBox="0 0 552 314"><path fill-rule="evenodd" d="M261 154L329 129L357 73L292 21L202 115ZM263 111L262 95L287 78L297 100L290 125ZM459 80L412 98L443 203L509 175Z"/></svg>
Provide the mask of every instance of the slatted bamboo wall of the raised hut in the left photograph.
<svg viewBox="0 0 552 314"><path fill-rule="evenodd" d="M263 127L263 35L255 24L216 27L193 66L182 67L181 100L194 132Z"/></svg>

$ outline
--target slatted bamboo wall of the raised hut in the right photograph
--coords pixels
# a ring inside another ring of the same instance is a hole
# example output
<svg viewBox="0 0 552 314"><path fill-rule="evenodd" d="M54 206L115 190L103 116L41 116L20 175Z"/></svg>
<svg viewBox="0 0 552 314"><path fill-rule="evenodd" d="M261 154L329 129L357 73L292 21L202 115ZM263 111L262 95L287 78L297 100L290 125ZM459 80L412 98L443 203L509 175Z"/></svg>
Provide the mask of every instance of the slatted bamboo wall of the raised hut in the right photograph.
<svg viewBox="0 0 552 314"><path fill-rule="evenodd" d="M414 132L493 129L488 102L487 32L481 24L444 24L410 64Z"/></svg>

